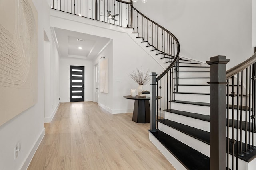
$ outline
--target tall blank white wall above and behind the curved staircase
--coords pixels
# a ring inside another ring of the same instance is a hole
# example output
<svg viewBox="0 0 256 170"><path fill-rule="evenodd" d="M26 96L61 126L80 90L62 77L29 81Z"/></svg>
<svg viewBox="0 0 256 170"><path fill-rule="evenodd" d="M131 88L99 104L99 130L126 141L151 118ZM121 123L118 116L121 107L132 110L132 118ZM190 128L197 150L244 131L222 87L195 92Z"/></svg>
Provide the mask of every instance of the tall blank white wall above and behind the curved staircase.
<svg viewBox="0 0 256 170"><path fill-rule="evenodd" d="M134 7L178 38L183 57L226 55L231 68L252 56L252 0L148 0Z"/></svg>

